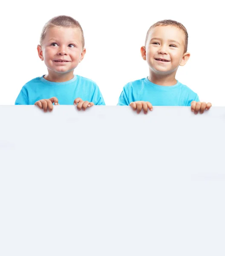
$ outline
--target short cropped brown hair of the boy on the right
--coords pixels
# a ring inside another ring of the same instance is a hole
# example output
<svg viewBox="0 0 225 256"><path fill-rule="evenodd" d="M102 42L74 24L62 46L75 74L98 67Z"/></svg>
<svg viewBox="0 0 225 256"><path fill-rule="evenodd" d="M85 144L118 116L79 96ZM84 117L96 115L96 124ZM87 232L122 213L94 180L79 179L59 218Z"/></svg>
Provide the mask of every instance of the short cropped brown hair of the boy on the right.
<svg viewBox="0 0 225 256"><path fill-rule="evenodd" d="M156 26L176 26L177 28L181 29L185 33L185 52L187 52L187 42L188 42L187 29L185 28L184 25L182 25L181 23L179 23L175 20L161 20L161 21L156 22L152 26L150 26L150 28L148 29L146 38L145 38L145 45L146 45L150 30L155 28Z"/></svg>

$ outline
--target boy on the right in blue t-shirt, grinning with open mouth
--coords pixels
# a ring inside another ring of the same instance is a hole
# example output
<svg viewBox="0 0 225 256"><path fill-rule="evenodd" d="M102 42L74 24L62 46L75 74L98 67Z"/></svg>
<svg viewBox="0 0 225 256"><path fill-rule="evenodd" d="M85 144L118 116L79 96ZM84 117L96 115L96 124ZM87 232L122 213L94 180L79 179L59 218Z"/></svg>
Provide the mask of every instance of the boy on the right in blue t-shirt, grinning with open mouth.
<svg viewBox="0 0 225 256"><path fill-rule="evenodd" d="M147 61L149 76L126 84L118 105L130 105L137 113L155 106L191 106L194 113L203 113L211 103L199 101L199 96L176 80L179 66L190 58L187 52L188 34L185 26L174 20L153 24L147 32L141 56Z"/></svg>

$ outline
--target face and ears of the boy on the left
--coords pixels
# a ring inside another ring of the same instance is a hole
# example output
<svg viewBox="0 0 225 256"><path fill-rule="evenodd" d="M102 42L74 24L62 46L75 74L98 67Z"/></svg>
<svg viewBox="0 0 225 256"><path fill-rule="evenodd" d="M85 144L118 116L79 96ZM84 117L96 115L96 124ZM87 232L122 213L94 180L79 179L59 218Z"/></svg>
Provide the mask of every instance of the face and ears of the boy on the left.
<svg viewBox="0 0 225 256"><path fill-rule="evenodd" d="M76 28L51 27L38 46L38 55L49 73L73 73L84 54L81 31Z"/></svg>

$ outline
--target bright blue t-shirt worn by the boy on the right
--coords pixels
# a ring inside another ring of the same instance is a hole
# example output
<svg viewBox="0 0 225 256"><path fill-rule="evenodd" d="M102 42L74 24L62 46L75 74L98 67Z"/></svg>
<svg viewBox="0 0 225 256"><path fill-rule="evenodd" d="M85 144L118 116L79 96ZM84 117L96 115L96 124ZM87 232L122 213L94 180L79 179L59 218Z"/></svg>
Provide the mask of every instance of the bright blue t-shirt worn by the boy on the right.
<svg viewBox="0 0 225 256"><path fill-rule="evenodd" d="M128 106L135 101L148 101L153 106L190 106L192 101L199 101L199 96L179 81L172 86L162 86L146 77L126 84L117 105Z"/></svg>

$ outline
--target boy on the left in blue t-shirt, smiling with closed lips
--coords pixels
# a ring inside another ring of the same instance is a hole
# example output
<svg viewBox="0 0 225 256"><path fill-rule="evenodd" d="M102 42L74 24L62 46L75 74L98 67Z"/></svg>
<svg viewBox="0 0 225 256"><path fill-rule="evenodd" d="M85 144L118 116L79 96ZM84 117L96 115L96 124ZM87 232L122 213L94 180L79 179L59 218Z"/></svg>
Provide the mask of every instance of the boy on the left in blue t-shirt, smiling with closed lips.
<svg viewBox="0 0 225 256"><path fill-rule="evenodd" d="M53 103L74 104L78 110L105 105L95 82L73 74L85 53L80 23L65 15L53 17L43 27L38 45L38 56L48 73L26 83L15 105L35 104L44 112L52 111Z"/></svg>

